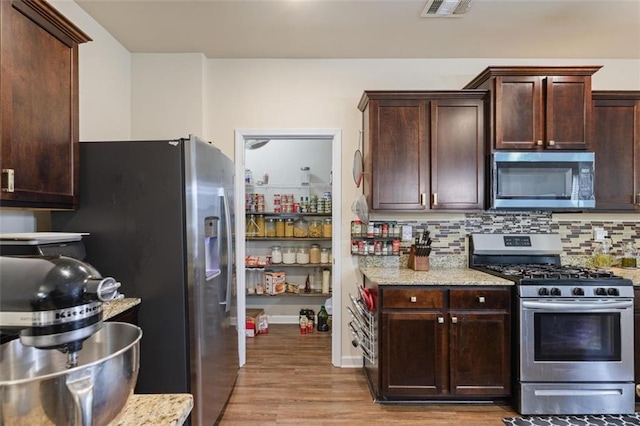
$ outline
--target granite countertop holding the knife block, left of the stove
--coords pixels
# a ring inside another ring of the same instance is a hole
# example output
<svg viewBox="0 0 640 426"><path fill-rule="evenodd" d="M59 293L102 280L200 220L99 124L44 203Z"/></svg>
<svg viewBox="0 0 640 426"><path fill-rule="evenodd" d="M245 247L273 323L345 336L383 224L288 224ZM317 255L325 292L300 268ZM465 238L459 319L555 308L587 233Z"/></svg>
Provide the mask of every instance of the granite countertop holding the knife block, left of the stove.
<svg viewBox="0 0 640 426"><path fill-rule="evenodd" d="M361 267L360 271L378 285L513 285L513 281L469 268L414 271L402 267Z"/></svg>

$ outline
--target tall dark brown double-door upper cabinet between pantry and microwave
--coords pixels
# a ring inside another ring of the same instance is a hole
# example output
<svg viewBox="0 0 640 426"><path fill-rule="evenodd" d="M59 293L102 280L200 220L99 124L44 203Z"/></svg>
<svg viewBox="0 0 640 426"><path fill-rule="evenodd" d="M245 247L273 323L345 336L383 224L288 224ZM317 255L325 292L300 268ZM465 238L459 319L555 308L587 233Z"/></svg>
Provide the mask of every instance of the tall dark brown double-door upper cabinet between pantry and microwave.
<svg viewBox="0 0 640 426"><path fill-rule="evenodd" d="M484 208L486 91L366 91L364 194L372 211Z"/></svg>

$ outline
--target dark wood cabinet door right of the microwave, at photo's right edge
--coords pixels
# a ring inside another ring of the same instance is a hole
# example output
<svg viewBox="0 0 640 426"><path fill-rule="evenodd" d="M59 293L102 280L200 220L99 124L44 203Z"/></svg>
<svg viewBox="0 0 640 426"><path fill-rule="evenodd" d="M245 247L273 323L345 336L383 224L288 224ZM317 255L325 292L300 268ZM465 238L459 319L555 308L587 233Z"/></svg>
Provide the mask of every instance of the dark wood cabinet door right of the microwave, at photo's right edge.
<svg viewBox="0 0 640 426"><path fill-rule="evenodd" d="M596 209L640 210L640 98L597 95L593 116Z"/></svg>

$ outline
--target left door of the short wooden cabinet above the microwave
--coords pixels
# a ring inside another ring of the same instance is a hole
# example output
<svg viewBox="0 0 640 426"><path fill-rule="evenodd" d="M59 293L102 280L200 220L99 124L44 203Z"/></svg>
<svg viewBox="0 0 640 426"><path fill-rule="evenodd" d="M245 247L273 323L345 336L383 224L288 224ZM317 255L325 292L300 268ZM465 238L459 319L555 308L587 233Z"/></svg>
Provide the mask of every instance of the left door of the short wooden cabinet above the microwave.
<svg viewBox="0 0 640 426"><path fill-rule="evenodd" d="M540 76L495 79L495 149L536 149L543 144Z"/></svg>

